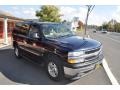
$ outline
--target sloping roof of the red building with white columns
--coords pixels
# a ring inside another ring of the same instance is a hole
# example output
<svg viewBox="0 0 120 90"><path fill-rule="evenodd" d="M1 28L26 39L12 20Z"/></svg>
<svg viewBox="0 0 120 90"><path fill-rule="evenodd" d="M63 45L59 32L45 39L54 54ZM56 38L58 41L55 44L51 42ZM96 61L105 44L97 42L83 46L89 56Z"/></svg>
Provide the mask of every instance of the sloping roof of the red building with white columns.
<svg viewBox="0 0 120 90"><path fill-rule="evenodd" d="M5 18L5 17L7 17L9 19L15 19L15 20L24 20L22 18L15 17L15 16L13 16L12 14L10 14L8 12L0 10L0 18Z"/></svg>

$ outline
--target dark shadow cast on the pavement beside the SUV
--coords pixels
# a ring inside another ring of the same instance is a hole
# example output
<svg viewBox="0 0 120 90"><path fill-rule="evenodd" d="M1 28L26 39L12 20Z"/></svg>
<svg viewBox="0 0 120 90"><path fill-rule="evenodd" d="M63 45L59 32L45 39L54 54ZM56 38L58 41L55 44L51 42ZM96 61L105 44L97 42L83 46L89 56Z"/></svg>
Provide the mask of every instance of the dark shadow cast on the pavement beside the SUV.
<svg viewBox="0 0 120 90"><path fill-rule="evenodd" d="M24 58L17 59L13 49L0 50L0 72L9 80L30 85L65 85L70 80L55 82L48 78L45 69Z"/></svg>

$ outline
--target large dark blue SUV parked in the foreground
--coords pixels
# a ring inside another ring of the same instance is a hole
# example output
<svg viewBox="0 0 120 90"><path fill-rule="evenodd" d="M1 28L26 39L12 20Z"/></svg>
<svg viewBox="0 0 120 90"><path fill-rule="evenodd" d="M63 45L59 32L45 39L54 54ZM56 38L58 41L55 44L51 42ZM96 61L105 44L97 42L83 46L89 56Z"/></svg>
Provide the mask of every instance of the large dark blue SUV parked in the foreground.
<svg viewBox="0 0 120 90"><path fill-rule="evenodd" d="M13 30L13 47L17 58L44 63L48 76L56 81L79 79L103 59L100 42L76 36L61 23L18 23Z"/></svg>

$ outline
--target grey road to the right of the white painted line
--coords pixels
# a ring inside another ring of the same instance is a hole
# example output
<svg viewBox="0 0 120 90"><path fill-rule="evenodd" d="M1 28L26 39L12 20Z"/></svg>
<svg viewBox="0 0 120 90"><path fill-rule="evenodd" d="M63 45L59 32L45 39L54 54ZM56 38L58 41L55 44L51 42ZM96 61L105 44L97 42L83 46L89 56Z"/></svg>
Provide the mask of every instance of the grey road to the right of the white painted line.
<svg viewBox="0 0 120 90"><path fill-rule="evenodd" d="M91 38L100 41L103 44L103 53L108 62L108 66L120 84L120 34L108 32L93 33L89 30Z"/></svg>

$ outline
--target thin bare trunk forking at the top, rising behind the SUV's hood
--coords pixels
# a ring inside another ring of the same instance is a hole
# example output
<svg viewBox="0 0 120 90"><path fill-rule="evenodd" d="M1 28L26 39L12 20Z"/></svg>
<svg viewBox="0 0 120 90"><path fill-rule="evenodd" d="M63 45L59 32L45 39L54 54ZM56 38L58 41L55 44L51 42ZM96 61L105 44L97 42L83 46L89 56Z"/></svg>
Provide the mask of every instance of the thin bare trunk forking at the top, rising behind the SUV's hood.
<svg viewBox="0 0 120 90"><path fill-rule="evenodd" d="M86 19L85 19L85 31L84 31L84 37L83 37L83 39L86 36L87 24L88 24L88 17L90 15L90 13L92 12L93 8L95 7L95 5L86 5L86 6L87 6L87 16L86 16Z"/></svg>

